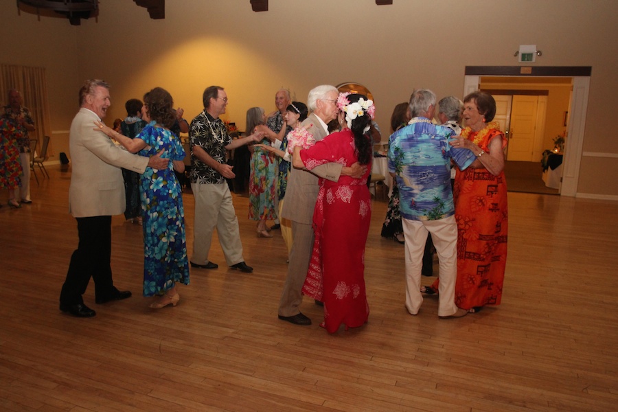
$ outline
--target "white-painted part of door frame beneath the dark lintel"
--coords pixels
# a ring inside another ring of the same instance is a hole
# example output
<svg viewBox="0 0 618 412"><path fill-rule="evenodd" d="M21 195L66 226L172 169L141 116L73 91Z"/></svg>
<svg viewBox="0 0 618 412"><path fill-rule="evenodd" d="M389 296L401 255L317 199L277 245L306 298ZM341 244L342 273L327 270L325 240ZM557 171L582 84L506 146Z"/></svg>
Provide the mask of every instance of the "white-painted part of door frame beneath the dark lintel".
<svg viewBox="0 0 618 412"><path fill-rule="evenodd" d="M504 75L483 75L482 77L506 77ZM516 76L521 78L531 76ZM534 77L534 76L533 76ZM584 128L586 127L586 111L588 110L588 93L590 92L589 76L560 76L573 79L573 93L569 108L568 138L564 147L562 162L562 185L560 196L577 196L577 183L580 179L580 164L584 147ZM466 75L464 79L464 96L479 90L481 75Z"/></svg>

